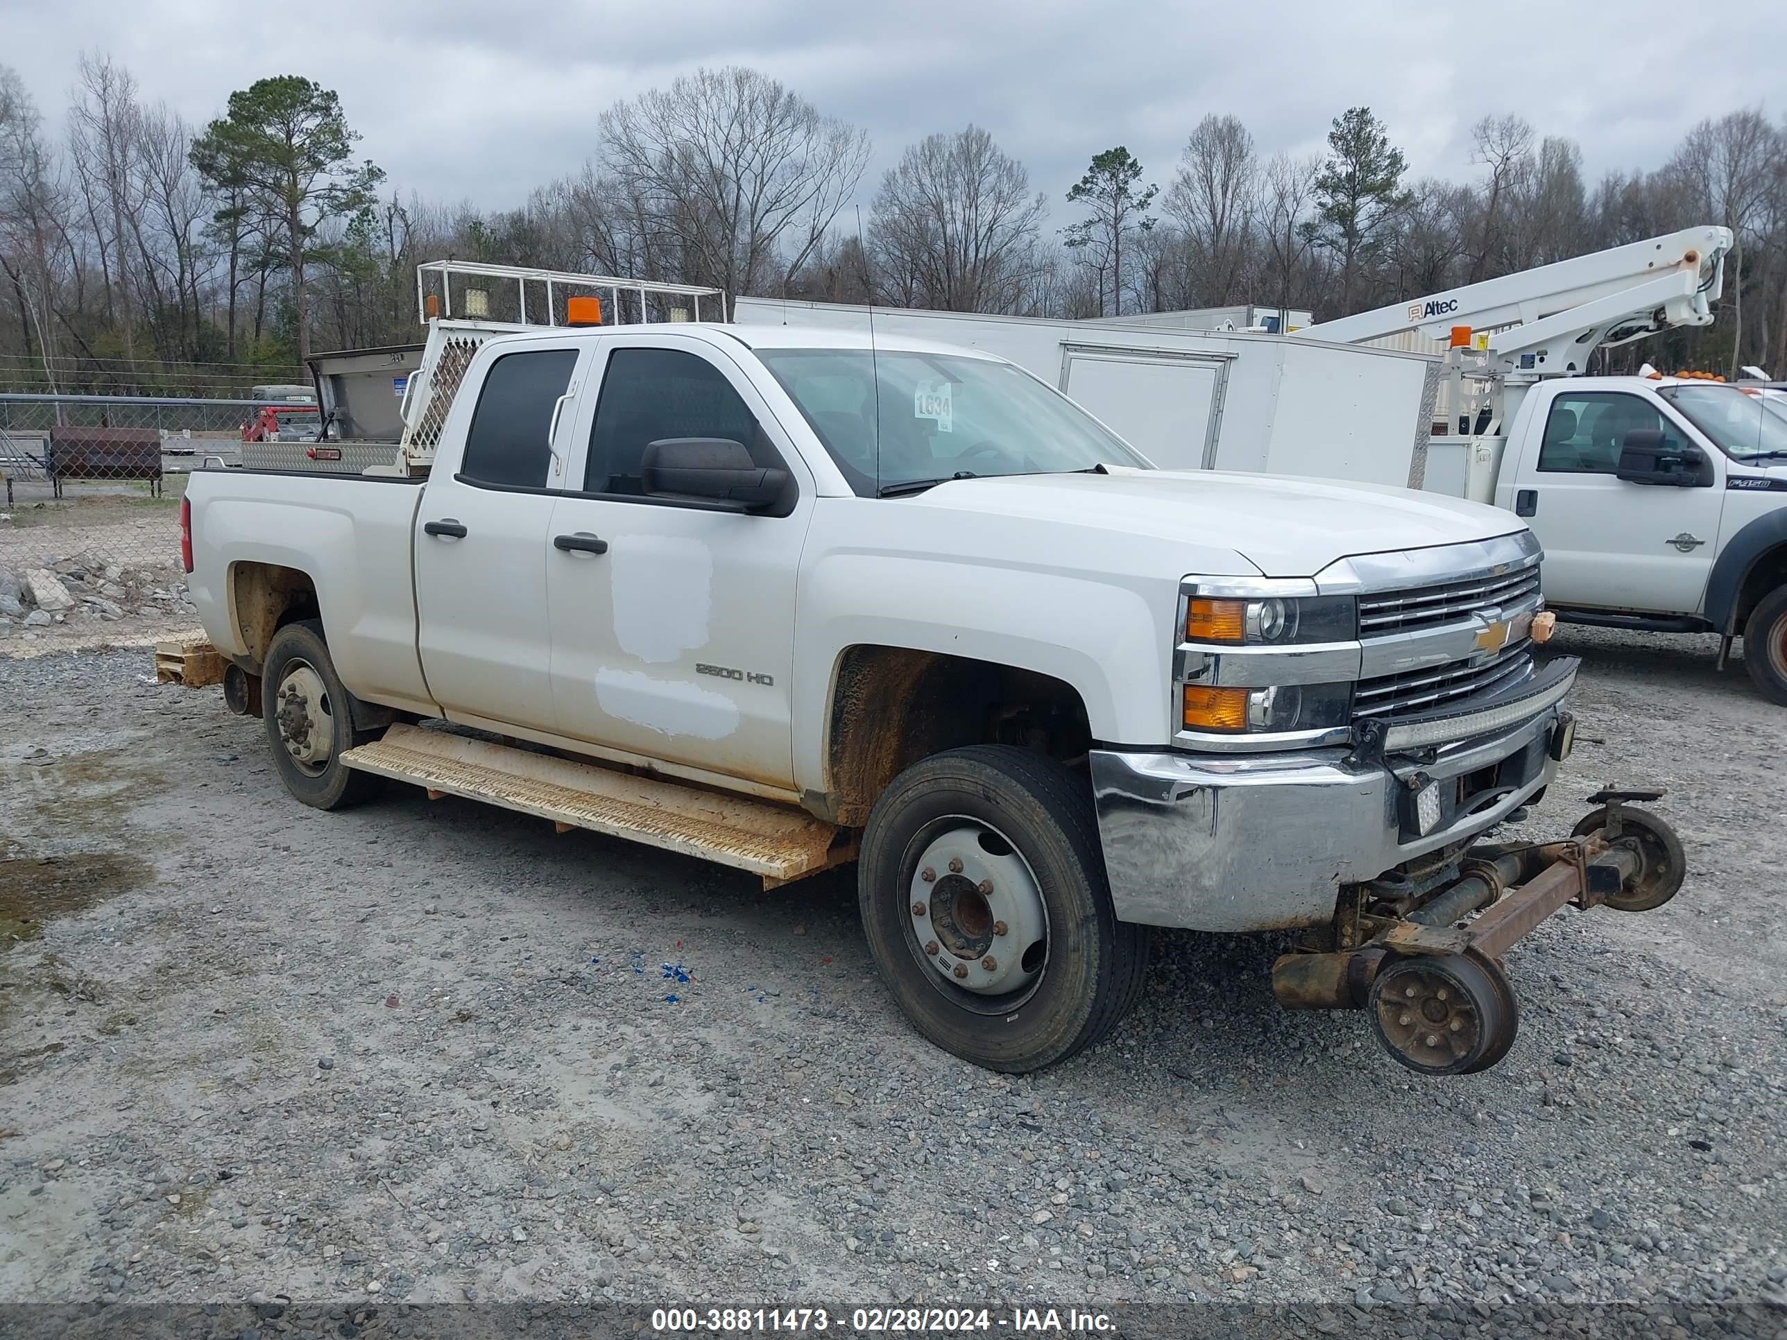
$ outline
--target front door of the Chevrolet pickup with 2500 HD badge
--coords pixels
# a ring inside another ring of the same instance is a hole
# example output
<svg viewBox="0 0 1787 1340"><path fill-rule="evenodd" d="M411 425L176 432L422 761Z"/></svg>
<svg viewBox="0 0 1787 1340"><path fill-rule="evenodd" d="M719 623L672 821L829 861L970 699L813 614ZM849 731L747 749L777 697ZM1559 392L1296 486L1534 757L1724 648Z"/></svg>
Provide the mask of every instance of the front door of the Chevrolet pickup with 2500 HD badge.
<svg viewBox="0 0 1787 1340"><path fill-rule="evenodd" d="M597 381L572 459L583 491L554 506L547 554L558 733L790 786L795 574L811 509L801 457L704 341L604 339ZM661 438L742 441L795 488L759 513L645 497L640 457Z"/></svg>

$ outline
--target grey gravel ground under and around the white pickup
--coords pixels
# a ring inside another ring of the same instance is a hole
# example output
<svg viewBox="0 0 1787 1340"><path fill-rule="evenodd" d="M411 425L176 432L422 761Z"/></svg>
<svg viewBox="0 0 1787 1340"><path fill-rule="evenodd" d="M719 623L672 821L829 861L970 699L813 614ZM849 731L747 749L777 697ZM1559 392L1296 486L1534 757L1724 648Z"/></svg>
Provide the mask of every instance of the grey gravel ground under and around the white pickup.
<svg viewBox="0 0 1787 1340"><path fill-rule="evenodd" d="M1523 833L1660 784L1692 875L1524 942L1519 1042L1451 1081L1279 1011L1272 938L1194 934L1112 1042L990 1076L895 1013L847 872L763 893L409 788L322 815L145 652L0 659L0 1301L1196 1299L1319 1333L1626 1301L1626 1333L1787 1335L1787 713L1708 641L1555 643L1580 745Z"/></svg>

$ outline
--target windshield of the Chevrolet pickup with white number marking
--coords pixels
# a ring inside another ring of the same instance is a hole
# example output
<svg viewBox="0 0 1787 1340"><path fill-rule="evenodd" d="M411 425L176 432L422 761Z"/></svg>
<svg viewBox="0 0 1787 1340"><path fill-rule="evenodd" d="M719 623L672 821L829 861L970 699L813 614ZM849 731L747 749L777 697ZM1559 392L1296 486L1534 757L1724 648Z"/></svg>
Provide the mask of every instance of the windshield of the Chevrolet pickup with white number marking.
<svg viewBox="0 0 1787 1340"><path fill-rule="evenodd" d="M1010 363L867 348L756 352L860 497L970 475L1145 465Z"/></svg>

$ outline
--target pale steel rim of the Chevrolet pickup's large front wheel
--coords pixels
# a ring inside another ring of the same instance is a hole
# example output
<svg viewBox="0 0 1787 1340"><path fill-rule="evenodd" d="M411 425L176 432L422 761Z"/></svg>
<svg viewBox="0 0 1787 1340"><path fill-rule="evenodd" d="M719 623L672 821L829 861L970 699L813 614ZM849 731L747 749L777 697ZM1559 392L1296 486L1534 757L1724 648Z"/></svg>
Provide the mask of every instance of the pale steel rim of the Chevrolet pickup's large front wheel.
<svg viewBox="0 0 1787 1340"><path fill-rule="evenodd" d="M1029 863L990 824L933 820L913 838L906 945L931 983L969 1009L1029 997L1049 958L1049 913Z"/></svg>

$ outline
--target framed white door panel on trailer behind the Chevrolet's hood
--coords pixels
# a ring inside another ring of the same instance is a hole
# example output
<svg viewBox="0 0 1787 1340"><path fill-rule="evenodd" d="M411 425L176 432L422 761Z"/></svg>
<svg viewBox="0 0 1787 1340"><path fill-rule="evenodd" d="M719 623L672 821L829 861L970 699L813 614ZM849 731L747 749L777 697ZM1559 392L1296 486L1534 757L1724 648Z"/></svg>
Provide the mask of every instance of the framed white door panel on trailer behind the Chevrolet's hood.
<svg viewBox="0 0 1787 1340"><path fill-rule="evenodd" d="M1162 470L1210 470L1231 357L1067 345L1061 391Z"/></svg>

